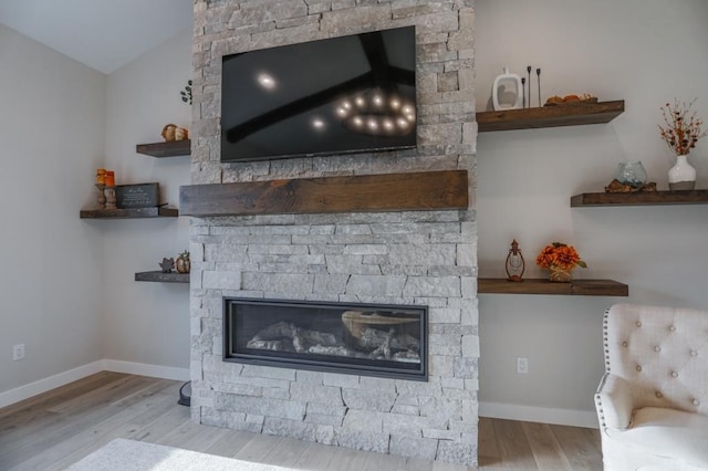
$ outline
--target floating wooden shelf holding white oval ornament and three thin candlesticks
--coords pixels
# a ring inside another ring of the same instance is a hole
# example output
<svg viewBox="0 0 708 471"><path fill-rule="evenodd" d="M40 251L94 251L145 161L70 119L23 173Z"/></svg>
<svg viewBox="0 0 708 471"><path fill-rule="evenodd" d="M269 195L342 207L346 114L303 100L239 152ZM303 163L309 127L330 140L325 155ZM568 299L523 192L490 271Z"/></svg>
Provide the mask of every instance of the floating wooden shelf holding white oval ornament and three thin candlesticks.
<svg viewBox="0 0 708 471"><path fill-rule="evenodd" d="M477 113L480 133L610 123L624 113L624 100Z"/></svg>

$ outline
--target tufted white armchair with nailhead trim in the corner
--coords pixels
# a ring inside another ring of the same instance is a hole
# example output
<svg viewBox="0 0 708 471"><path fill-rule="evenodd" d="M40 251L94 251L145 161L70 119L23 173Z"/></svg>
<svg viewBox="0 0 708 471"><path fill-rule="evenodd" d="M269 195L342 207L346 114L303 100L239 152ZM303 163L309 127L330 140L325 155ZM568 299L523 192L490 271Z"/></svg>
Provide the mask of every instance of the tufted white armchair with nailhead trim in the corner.
<svg viewBox="0 0 708 471"><path fill-rule="evenodd" d="M616 304L604 350L605 471L708 469L708 312Z"/></svg>

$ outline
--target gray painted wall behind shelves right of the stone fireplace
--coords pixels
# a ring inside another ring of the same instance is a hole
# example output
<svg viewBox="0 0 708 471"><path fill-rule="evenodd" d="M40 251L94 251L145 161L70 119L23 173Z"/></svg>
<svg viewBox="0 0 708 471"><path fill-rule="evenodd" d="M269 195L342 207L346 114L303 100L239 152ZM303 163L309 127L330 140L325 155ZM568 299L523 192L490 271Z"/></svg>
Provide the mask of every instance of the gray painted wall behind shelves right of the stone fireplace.
<svg viewBox="0 0 708 471"><path fill-rule="evenodd" d="M694 108L708 117L708 3L482 0L476 13L478 111L504 65L524 75L527 65L541 67L543 100L593 93L626 102L610 124L478 139L481 276L503 273L513 238L527 276L542 276L535 257L561 240L590 265L576 276L629 285L628 299L480 295L480 414L596 426L604 310L624 301L708 307L708 207L571 209L569 200L603 191L623 160L642 160L649 180L668 189L674 157L658 136L659 106L698 97ZM701 139L689 156L697 188L708 186L707 157ZM517 356L529 358L528 375L517 375Z"/></svg>

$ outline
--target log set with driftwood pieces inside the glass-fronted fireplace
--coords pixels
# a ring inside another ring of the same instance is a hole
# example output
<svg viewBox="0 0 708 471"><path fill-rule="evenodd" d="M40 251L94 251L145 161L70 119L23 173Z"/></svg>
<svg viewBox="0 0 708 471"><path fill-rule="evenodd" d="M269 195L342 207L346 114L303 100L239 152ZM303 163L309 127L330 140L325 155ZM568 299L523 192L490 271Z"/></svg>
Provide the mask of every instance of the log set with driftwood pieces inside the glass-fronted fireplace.
<svg viewBox="0 0 708 471"><path fill-rule="evenodd" d="M405 333L417 318L346 311L343 336L278 322L258 332L247 347L272 352L331 355L405 363L420 363L420 342Z"/></svg>

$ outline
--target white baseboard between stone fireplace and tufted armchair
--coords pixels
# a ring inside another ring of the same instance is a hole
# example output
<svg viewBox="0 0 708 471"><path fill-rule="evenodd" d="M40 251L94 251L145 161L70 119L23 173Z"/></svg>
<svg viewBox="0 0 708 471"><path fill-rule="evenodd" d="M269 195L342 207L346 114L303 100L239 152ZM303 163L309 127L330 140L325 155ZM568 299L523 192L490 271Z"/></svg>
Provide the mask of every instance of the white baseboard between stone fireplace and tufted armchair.
<svg viewBox="0 0 708 471"><path fill-rule="evenodd" d="M479 402L479 416L493 419L523 420L525 422L554 423L559 426L600 428L597 415L587 410L553 409L519 406L516 404Z"/></svg>

